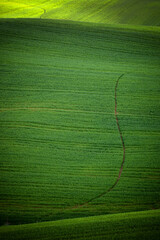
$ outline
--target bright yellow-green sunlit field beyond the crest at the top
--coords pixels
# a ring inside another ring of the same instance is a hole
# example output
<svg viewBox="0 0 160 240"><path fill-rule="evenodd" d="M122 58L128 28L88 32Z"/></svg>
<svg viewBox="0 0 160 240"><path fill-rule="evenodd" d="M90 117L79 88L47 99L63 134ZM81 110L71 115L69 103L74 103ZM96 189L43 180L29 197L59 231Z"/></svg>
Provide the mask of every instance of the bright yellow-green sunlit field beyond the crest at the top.
<svg viewBox="0 0 160 240"><path fill-rule="evenodd" d="M159 0L3 0L1 18L160 25Z"/></svg>

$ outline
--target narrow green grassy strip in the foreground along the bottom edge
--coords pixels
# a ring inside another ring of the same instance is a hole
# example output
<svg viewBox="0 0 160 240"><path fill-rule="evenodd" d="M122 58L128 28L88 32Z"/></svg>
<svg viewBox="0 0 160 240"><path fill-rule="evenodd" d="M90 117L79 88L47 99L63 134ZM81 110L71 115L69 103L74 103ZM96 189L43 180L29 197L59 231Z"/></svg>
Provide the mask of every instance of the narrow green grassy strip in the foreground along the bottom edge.
<svg viewBox="0 0 160 240"><path fill-rule="evenodd" d="M4 240L159 239L160 211L123 213L0 228Z"/></svg>

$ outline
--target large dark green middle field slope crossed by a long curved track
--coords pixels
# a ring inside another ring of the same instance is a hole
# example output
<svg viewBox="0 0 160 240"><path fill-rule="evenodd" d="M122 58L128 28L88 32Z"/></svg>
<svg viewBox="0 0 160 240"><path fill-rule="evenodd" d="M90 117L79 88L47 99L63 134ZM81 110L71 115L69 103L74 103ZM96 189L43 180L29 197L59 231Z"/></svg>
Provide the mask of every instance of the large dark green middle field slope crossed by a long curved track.
<svg viewBox="0 0 160 240"><path fill-rule="evenodd" d="M0 28L1 224L159 208L157 28Z"/></svg>

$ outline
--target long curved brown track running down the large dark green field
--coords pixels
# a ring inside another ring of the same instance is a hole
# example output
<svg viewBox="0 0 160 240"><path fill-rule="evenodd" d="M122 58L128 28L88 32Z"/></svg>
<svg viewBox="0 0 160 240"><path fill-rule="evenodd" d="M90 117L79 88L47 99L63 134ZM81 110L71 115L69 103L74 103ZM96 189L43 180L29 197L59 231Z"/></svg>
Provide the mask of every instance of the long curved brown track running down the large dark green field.
<svg viewBox="0 0 160 240"><path fill-rule="evenodd" d="M95 196L94 198L91 198L90 200L88 200L87 202L85 203L82 203L80 205L77 205L77 206L74 206L72 208L79 208L79 207L83 207L84 205L92 202L93 200L96 200L102 196L104 196L105 194L111 192L113 190L113 188L115 188L115 186L117 185L117 183L119 182L120 180L120 177L121 177L121 174L122 174L122 171L123 171L123 166L124 166L124 162L125 162L125 145L124 145L124 140L123 140L123 136L122 136L122 132L121 132L121 129L120 129L120 125L119 125L119 120L118 120L118 113L117 113L117 88L118 88L118 83L119 83L119 80L124 76L124 74L122 74L116 81L116 85L115 85L115 118L116 118L116 123L117 123L117 127L118 127L118 131L119 131L119 134L120 134L120 138L121 138L121 142L122 142L122 147L123 147L123 161L121 163L121 167L120 167L120 170L119 170L119 174L118 174L118 177L115 181L115 183L109 188L107 189L106 191L100 193L99 195Z"/></svg>

